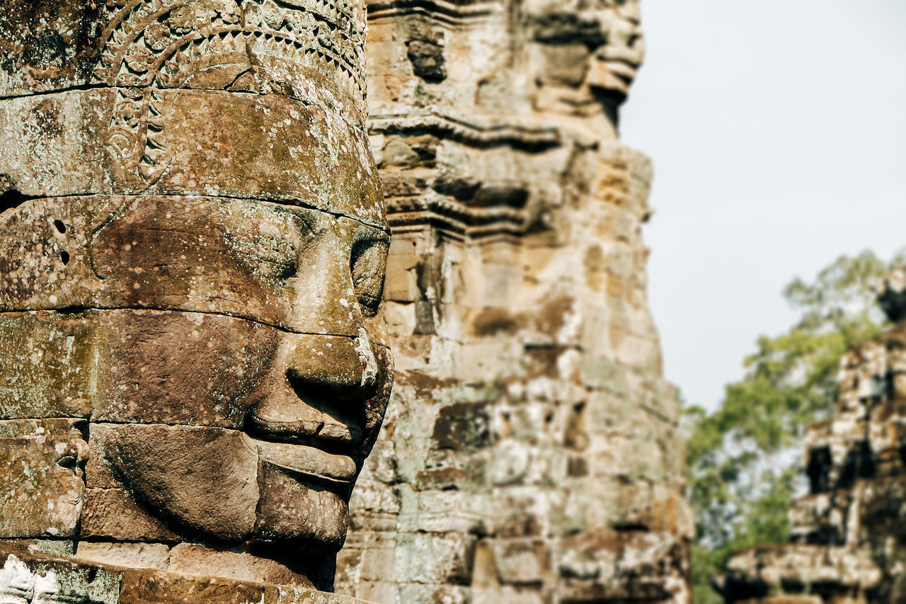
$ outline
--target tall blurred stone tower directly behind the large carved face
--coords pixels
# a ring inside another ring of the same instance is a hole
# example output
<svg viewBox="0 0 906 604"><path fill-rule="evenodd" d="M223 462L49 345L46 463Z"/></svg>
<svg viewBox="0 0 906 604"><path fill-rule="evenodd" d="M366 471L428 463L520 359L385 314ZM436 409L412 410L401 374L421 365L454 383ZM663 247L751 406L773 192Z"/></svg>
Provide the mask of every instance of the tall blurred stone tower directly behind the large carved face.
<svg viewBox="0 0 906 604"><path fill-rule="evenodd" d="M637 0L377 0L368 23L397 379L337 591L686 601L651 163L616 130Z"/></svg>

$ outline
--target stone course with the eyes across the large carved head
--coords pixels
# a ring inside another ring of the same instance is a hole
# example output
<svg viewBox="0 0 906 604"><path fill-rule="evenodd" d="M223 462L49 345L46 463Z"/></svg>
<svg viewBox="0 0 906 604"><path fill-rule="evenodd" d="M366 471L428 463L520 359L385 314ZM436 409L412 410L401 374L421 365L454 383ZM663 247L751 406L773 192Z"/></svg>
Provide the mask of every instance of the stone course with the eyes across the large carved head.
<svg viewBox="0 0 906 604"><path fill-rule="evenodd" d="M0 233L0 309L175 309L353 337L366 326L385 344L380 305L356 313L354 301L380 292L387 241L357 220L253 200L35 200L8 214ZM351 265L354 299L346 294ZM313 281L346 294L347 306L300 287Z"/></svg>

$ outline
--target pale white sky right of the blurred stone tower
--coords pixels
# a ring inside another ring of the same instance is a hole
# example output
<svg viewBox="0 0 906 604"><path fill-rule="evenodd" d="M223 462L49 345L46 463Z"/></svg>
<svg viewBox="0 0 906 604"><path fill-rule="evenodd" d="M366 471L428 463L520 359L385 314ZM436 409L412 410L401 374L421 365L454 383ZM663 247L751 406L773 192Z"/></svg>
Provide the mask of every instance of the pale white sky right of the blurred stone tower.
<svg viewBox="0 0 906 604"><path fill-rule="evenodd" d="M645 229L667 377L716 405L781 290L906 246L906 0L642 0L622 137L655 162Z"/></svg>

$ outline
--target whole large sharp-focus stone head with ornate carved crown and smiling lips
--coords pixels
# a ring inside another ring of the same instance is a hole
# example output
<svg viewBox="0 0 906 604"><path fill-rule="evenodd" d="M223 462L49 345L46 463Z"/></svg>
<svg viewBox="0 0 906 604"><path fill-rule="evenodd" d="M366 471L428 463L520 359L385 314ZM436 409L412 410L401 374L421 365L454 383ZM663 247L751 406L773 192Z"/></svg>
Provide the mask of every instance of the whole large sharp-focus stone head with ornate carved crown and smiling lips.
<svg viewBox="0 0 906 604"><path fill-rule="evenodd" d="M363 33L343 1L4 3L0 539L330 586L392 382Z"/></svg>

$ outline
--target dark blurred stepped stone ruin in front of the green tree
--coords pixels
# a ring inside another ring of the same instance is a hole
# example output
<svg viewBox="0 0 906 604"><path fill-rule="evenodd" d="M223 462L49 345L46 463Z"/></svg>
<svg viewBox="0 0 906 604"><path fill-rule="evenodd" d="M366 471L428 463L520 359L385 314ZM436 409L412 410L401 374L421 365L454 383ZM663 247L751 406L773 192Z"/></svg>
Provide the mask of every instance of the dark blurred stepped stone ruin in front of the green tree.
<svg viewBox="0 0 906 604"><path fill-rule="evenodd" d="M906 601L906 278L879 301L892 329L840 365L833 419L805 432L809 493L789 511L791 543L737 553L728 602Z"/></svg>

